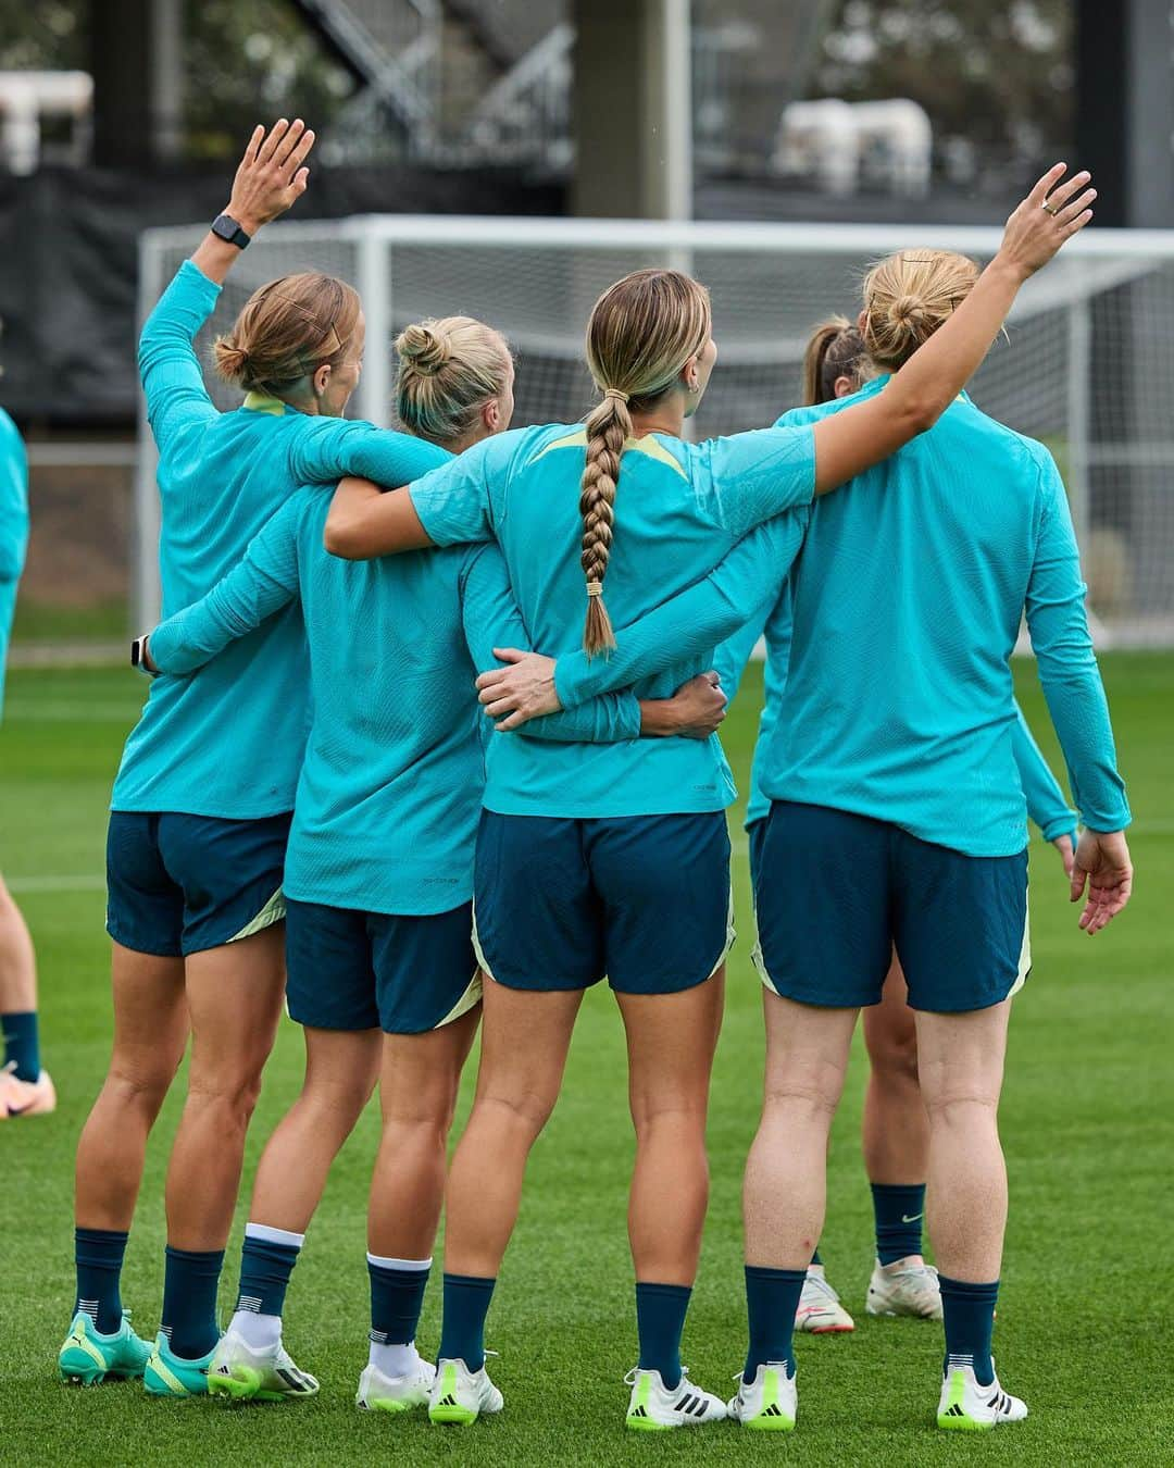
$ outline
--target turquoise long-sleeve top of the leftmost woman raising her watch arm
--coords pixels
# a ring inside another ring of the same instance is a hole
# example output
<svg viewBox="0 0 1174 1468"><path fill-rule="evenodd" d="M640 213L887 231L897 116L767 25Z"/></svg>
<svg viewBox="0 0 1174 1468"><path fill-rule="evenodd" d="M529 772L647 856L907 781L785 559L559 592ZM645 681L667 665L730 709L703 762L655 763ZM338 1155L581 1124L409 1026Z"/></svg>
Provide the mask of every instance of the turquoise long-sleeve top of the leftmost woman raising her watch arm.
<svg viewBox="0 0 1174 1468"><path fill-rule="evenodd" d="M370 423L311 417L251 393L220 413L195 335L220 286L181 266L139 339L158 449L163 612L208 592L302 484L364 474L406 484L449 455ZM126 741L112 807L258 819L294 806L307 734L301 611L291 606L191 678L157 678Z"/></svg>

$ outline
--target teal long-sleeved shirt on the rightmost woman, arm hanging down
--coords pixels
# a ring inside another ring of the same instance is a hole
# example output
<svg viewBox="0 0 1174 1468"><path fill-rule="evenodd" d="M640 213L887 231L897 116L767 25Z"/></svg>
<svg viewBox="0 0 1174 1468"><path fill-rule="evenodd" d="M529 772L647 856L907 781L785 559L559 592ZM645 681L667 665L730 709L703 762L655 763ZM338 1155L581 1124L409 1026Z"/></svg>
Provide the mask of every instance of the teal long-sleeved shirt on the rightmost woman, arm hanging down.
<svg viewBox="0 0 1174 1468"><path fill-rule="evenodd" d="M810 424L856 393L781 418ZM1129 824L1064 484L1036 443L964 395L927 433L822 501L792 574L787 716L769 800L891 821L970 856L1023 850L1010 656L1026 609L1073 799Z"/></svg>

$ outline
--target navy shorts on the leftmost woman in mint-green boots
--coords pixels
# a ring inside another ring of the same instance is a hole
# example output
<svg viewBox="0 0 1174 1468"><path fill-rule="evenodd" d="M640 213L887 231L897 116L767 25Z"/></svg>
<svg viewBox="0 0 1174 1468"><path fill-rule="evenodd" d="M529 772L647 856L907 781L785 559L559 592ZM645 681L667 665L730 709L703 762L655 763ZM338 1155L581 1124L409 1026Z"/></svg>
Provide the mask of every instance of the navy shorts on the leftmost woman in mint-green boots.
<svg viewBox="0 0 1174 1468"><path fill-rule="evenodd" d="M186 957L285 918L291 813L217 821L112 810L106 931L123 948Z"/></svg>

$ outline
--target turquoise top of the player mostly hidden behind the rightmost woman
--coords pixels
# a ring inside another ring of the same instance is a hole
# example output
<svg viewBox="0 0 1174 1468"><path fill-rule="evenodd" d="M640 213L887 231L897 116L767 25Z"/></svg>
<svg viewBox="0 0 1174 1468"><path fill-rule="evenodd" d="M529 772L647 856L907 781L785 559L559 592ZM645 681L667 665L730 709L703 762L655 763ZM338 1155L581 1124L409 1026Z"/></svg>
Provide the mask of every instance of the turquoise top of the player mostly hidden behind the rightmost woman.
<svg viewBox="0 0 1174 1468"><path fill-rule="evenodd" d="M721 568L719 568L721 570ZM716 574L716 573L715 573ZM768 577L765 577L766 580ZM750 799L745 809L745 825L751 826L770 809L770 802L762 793L762 757L769 747L775 724L787 715L787 664L791 656L791 589L784 584L778 600L766 615L753 617L745 627L718 649L715 668L722 680L731 703L741 683L759 637L766 639L766 662L763 665L763 706L759 715L759 737L754 743L754 762L750 771ZM1045 841L1061 835L1076 843L1077 815L1064 799L1064 791L1048 768L1039 744L1036 744L1023 709L1016 702L1016 722L1011 728L1011 750L1016 769L1027 802L1027 816L1039 826Z"/></svg>

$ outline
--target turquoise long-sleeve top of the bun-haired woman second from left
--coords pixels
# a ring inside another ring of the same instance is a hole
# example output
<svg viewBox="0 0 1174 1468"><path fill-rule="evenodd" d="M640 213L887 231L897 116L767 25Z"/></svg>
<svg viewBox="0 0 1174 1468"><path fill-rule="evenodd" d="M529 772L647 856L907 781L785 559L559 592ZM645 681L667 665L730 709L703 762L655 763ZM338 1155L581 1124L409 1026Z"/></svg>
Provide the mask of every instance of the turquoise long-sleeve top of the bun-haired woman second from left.
<svg viewBox="0 0 1174 1468"><path fill-rule="evenodd" d="M304 489L286 501L225 580L151 633L151 658L163 674L191 672L299 602L313 722L285 893L367 912L446 912L473 895L489 728L474 680L495 646L530 646L525 627L495 545L340 561L323 548L329 498ZM263 706L267 677L260 662L252 688ZM635 740L640 705L631 694L593 699L527 734Z"/></svg>

